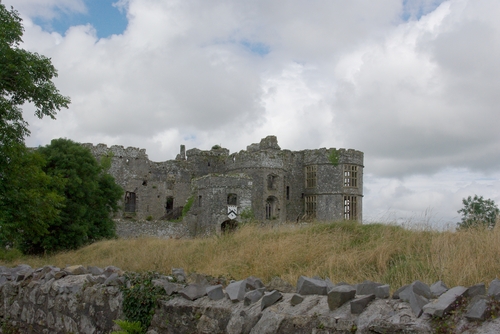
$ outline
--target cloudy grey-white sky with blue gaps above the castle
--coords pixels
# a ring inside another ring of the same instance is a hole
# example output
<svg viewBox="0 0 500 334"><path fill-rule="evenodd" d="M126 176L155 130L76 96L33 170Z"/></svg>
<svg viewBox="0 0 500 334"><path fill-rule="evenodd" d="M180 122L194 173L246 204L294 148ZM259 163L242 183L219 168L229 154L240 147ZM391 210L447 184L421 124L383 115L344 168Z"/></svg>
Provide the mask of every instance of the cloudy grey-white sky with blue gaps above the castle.
<svg viewBox="0 0 500 334"><path fill-rule="evenodd" d="M456 223L461 199L500 202L498 0L3 0L23 47L71 97L30 106L52 138L231 152L365 152L366 221Z"/></svg>

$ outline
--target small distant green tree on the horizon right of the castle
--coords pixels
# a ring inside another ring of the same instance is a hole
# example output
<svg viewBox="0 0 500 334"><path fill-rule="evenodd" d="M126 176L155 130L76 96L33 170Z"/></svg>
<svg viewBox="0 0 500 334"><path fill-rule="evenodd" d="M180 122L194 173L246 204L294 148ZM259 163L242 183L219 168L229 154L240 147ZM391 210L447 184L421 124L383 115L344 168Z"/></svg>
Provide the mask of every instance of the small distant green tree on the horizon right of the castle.
<svg viewBox="0 0 500 334"><path fill-rule="evenodd" d="M462 199L462 203L463 208L458 210L462 215L462 221L458 223L459 228L495 227L500 210L493 200L474 195Z"/></svg>

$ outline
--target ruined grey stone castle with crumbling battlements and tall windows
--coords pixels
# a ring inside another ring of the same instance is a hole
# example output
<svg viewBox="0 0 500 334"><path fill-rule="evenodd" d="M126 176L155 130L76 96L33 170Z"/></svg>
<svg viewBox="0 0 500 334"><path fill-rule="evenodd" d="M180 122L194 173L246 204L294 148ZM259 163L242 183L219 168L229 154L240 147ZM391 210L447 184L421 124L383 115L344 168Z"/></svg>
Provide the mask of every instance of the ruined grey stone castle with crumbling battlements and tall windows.
<svg viewBox="0 0 500 334"><path fill-rule="evenodd" d="M124 190L119 217L182 220L193 235L220 233L239 222L362 218L363 152L352 149L282 150L268 136L246 150L185 149L175 160L153 162L144 149L84 144L110 163Z"/></svg>

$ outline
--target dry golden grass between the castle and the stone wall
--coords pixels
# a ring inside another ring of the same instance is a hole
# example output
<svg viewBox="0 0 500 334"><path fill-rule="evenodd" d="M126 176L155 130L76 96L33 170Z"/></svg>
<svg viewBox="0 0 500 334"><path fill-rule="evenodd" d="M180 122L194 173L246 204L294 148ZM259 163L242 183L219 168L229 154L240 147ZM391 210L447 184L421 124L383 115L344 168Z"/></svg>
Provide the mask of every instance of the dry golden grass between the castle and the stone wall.
<svg viewBox="0 0 500 334"><path fill-rule="evenodd" d="M300 275L333 282L373 280L393 288L416 279L448 286L489 283L500 273L500 228L438 232L384 224L313 223L264 228L192 240L155 238L102 241L47 257L21 257L4 265L32 267L114 265L128 271L188 273L243 279L274 276L295 284Z"/></svg>

